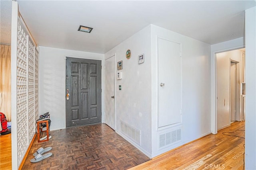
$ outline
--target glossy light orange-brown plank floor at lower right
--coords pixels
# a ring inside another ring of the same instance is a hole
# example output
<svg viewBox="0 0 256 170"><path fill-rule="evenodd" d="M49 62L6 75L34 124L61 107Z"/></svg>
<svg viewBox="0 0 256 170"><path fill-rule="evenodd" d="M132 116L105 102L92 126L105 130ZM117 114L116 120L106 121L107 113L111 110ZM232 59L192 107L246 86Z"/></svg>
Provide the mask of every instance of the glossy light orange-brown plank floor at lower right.
<svg viewBox="0 0 256 170"><path fill-rule="evenodd" d="M245 121L171 150L130 170L244 169ZM225 134L225 135L224 135ZM231 136L228 136L231 135Z"/></svg>

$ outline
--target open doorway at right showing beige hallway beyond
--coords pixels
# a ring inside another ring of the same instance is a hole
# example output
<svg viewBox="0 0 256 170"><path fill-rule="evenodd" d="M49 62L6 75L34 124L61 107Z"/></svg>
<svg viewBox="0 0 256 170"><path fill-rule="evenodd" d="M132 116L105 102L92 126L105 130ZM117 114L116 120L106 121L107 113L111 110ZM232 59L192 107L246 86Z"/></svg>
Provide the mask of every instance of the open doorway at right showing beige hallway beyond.
<svg viewBox="0 0 256 170"><path fill-rule="evenodd" d="M217 130L243 121L245 97L245 49L216 53Z"/></svg>

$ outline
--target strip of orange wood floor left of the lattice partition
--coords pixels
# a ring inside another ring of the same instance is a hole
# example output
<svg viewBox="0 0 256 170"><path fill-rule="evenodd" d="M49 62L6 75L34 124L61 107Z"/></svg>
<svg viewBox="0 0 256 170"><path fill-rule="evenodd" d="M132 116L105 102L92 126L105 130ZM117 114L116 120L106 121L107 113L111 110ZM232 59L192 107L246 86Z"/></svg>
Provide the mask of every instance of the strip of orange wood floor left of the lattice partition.
<svg viewBox="0 0 256 170"><path fill-rule="evenodd" d="M12 169L12 138L11 133L0 135L0 170Z"/></svg>

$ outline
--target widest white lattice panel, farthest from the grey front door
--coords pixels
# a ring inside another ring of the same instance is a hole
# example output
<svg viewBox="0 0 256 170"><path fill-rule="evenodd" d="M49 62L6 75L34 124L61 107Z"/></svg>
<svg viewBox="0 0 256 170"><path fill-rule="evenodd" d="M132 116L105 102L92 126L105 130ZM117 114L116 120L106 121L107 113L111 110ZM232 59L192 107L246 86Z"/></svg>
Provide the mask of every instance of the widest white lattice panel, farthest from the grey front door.
<svg viewBox="0 0 256 170"><path fill-rule="evenodd" d="M18 162L21 161L28 145L27 137L27 40L26 31L18 21L17 38L17 141Z"/></svg>

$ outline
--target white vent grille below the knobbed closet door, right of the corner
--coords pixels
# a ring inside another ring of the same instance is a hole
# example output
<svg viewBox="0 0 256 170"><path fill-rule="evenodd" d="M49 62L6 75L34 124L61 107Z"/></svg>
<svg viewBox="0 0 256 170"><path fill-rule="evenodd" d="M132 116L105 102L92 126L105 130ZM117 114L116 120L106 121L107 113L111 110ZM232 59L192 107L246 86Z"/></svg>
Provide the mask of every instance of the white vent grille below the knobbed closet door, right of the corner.
<svg viewBox="0 0 256 170"><path fill-rule="evenodd" d="M181 140L181 129L159 134L159 148L173 145Z"/></svg>

